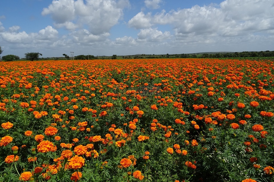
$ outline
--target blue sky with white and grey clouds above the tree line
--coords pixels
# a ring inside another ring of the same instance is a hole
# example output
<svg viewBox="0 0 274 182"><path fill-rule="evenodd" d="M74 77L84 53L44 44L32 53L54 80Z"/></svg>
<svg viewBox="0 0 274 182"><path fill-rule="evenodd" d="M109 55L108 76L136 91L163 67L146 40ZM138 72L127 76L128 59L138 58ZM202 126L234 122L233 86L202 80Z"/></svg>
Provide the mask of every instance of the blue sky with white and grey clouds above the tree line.
<svg viewBox="0 0 274 182"><path fill-rule="evenodd" d="M10 0L3 55L174 54L274 50L272 0Z"/></svg>

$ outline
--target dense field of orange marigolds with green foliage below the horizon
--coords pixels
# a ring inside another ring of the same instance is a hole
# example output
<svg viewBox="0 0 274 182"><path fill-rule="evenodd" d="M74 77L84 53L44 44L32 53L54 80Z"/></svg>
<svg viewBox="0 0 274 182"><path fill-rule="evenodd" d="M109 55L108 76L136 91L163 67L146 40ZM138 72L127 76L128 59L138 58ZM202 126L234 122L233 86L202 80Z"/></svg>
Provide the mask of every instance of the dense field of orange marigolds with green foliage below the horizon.
<svg viewBox="0 0 274 182"><path fill-rule="evenodd" d="M0 63L0 181L274 181L274 63Z"/></svg>

